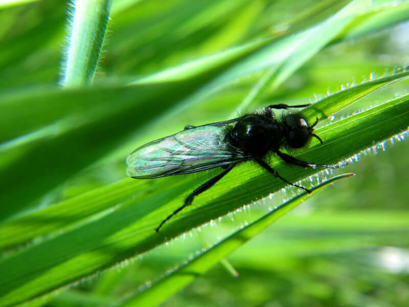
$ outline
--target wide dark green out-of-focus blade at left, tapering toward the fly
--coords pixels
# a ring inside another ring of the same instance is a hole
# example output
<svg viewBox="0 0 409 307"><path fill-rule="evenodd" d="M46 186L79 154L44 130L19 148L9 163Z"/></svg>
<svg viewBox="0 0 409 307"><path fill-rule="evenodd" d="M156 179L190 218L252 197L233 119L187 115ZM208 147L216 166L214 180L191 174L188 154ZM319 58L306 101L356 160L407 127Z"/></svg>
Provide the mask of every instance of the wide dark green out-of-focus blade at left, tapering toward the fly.
<svg viewBox="0 0 409 307"><path fill-rule="evenodd" d="M0 212L1 219L29 206L30 201L119 146L135 128L157 116L158 109L166 109L190 91L187 82L180 86L162 83L50 90L4 99L0 199L8 206ZM50 104L54 104L51 109ZM49 111L44 113L45 109ZM144 116L135 121L135 114Z"/></svg>

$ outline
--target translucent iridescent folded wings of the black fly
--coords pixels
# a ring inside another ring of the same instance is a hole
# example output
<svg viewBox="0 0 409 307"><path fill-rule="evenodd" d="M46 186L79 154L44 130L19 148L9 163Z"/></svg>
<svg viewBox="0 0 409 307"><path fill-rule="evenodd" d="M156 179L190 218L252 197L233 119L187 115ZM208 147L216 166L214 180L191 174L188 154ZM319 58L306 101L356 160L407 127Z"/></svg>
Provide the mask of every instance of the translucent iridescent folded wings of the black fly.
<svg viewBox="0 0 409 307"><path fill-rule="evenodd" d="M198 126L145 144L126 159L126 173L149 179L187 174L248 160L224 141L226 127L235 120Z"/></svg>

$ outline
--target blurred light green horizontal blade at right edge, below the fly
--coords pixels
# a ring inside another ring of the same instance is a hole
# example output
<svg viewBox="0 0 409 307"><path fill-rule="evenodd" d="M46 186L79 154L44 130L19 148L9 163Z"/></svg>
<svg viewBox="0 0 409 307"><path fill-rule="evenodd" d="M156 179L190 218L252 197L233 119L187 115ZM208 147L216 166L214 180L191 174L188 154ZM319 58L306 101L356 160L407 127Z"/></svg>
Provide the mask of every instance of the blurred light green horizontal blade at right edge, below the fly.
<svg viewBox="0 0 409 307"><path fill-rule="evenodd" d="M362 175L357 173L356 176ZM324 201L329 202L331 196L327 194ZM286 216L285 221L262 234L271 238L274 244L262 245L260 243L264 240L260 240L253 243L251 248L243 247L240 253L235 253L229 259L234 264L240 264L248 261L246 255L253 252L251 261L256 264L259 262L262 267L270 262L265 259L265 255L274 255L276 258L307 257L378 246L405 246L409 243L409 213L404 210L328 209L328 212L317 210L304 216Z"/></svg>

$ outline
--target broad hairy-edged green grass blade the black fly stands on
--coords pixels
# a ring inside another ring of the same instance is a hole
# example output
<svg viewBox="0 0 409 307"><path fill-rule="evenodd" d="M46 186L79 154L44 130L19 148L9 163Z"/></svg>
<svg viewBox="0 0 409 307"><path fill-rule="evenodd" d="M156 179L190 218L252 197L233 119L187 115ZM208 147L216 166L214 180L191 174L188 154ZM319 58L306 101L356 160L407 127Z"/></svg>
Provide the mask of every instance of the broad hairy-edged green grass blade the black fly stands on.
<svg viewBox="0 0 409 307"><path fill-rule="evenodd" d="M337 163L371 147L374 142L400 133L406 130L409 121L408 103L408 96L403 96L317 129L316 133L324 144L313 141L310 147L300 150L297 157L305 161ZM290 168L277 160L270 164L292 182L318 171ZM203 177L210 176L207 174ZM204 180L194 177L177 180L165 178L141 183L129 179L135 185L134 199L125 201L122 208L4 258L0 262L0 305L26 301L110 267L117 261L144 253L162 244L166 238L206 223L284 186L283 182L259 168L251 164L243 165L233 170L206 195L195 199L192 207L180 212L160 233L156 233L154 228L164 216L179 207L190 190ZM141 185L140 189L138 185ZM251 193L248 192L249 187ZM111 204L118 204L115 197Z"/></svg>

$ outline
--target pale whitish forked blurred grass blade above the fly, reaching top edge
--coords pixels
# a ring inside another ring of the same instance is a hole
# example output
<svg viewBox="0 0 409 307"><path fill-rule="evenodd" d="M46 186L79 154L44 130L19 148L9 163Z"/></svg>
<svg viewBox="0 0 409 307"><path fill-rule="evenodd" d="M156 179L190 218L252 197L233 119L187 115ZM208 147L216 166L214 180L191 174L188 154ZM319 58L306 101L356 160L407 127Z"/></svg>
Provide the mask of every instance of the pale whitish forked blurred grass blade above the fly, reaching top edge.
<svg viewBox="0 0 409 307"><path fill-rule="evenodd" d="M255 85L255 89L237 107L239 111L245 109L268 85L272 87L272 90L277 89L294 71L324 48L359 15L366 3L366 0L353 1L323 23L283 38L275 45L267 46L243 63L239 63L236 67L232 67L229 71L218 76L216 80L206 86L204 92L209 94L225 83L243 76L243 74L254 72L254 68L258 70L269 68L259 83ZM255 62L258 64L255 65ZM197 97L203 98L203 95ZM193 101L190 99L184 103L183 107L192 103Z"/></svg>

